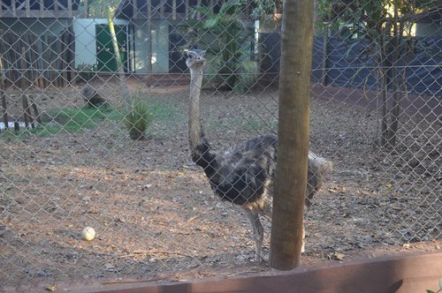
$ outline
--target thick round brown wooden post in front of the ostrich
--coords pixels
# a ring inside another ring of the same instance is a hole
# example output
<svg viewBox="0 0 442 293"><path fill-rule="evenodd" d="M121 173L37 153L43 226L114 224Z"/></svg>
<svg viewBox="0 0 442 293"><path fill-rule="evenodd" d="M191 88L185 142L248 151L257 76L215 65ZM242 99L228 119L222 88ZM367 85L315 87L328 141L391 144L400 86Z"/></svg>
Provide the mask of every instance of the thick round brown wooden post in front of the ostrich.
<svg viewBox="0 0 442 293"><path fill-rule="evenodd" d="M278 161L271 225L271 267L301 261L309 155L314 1L285 0L279 76Z"/></svg>

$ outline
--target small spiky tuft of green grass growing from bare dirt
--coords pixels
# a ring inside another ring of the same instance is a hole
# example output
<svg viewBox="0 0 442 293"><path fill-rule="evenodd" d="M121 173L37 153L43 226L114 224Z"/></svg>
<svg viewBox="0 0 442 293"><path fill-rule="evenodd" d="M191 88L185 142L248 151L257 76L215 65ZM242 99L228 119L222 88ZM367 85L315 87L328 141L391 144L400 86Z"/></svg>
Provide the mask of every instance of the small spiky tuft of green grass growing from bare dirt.
<svg viewBox="0 0 442 293"><path fill-rule="evenodd" d="M146 101L139 96L133 98L129 112L125 117L125 125L129 137L133 140L146 139L145 132L152 123L152 114Z"/></svg>

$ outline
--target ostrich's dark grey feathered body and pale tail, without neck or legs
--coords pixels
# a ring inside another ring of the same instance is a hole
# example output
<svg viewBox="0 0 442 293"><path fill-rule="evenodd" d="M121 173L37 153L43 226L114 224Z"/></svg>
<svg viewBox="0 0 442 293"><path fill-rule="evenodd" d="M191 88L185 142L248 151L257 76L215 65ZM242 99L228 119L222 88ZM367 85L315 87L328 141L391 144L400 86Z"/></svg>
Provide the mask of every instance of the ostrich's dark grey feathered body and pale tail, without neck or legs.
<svg viewBox="0 0 442 293"><path fill-rule="evenodd" d="M213 192L256 214L271 216L277 144L278 137L270 134L249 139L224 154L215 154L209 164L204 164L204 170L209 170L206 175ZM207 142L205 146L209 146ZM205 154L210 154L210 149L206 149ZM307 207L321 188L325 173L331 169L331 162L309 152Z"/></svg>

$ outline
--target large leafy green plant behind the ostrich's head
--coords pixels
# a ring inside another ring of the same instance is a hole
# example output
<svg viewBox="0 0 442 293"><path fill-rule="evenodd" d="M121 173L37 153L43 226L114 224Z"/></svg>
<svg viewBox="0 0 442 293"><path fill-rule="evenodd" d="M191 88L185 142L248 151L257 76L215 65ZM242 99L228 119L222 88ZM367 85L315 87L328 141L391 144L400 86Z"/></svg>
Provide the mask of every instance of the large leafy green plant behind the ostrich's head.
<svg viewBox="0 0 442 293"><path fill-rule="evenodd" d="M207 7L198 7L195 11L206 19L197 27L211 36L201 39L208 48L206 82L238 94L247 92L258 76L258 65L252 53L254 34L241 18L243 9L240 0L229 0L218 13Z"/></svg>

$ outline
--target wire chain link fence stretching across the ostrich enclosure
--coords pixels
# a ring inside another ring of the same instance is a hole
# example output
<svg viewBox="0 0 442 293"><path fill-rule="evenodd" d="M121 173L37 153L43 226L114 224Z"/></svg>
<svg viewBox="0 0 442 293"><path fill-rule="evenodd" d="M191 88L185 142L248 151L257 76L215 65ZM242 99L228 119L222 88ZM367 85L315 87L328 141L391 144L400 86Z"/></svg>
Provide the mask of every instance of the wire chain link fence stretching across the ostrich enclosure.
<svg viewBox="0 0 442 293"><path fill-rule="evenodd" d="M207 51L214 150L276 133L281 11L0 1L0 288L264 270L248 217L192 162L186 52ZM437 0L316 1L310 149L334 170L303 263L439 247L441 21Z"/></svg>

